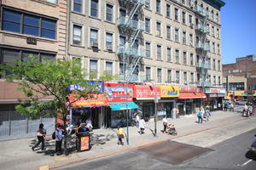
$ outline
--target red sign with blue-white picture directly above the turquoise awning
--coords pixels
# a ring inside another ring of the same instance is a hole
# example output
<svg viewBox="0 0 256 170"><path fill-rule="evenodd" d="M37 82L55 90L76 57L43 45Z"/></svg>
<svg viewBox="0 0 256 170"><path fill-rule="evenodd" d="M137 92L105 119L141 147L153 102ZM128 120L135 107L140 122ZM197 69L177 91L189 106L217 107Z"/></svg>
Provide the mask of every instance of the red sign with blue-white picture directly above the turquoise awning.
<svg viewBox="0 0 256 170"><path fill-rule="evenodd" d="M108 102L132 101L133 85L123 83L104 82L104 92Z"/></svg>

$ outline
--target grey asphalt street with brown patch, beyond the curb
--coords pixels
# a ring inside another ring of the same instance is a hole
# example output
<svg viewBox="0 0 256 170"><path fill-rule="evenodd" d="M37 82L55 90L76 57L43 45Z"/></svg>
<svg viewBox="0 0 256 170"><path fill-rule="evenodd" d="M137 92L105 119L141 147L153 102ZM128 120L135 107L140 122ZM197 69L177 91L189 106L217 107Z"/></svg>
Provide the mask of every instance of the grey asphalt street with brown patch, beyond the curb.
<svg viewBox="0 0 256 170"><path fill-rule="evenodd" d="M247 169L254 170L256 156L248 149L256 138L253 119L226 127L150 144L94 161L72 164L66 169Z"/></svg>

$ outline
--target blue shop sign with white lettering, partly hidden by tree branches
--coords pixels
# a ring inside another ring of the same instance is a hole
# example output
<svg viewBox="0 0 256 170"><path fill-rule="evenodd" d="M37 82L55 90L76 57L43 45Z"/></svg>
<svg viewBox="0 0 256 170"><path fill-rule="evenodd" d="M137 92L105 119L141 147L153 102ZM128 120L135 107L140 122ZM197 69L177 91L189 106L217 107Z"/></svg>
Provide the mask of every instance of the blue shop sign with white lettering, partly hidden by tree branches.
<svg viewBox="0 0 256 170"><path fill-rule="evenodd" d="M96 85L96 87L94 87L95 91L94 92L98 92L100 94L103 93L103 82L87 82L88 85ZM72 93L76 93L79 91L84 90L84 87L81 87L79 84L73 84L68 86L68 91L72 92Z"/></svg>

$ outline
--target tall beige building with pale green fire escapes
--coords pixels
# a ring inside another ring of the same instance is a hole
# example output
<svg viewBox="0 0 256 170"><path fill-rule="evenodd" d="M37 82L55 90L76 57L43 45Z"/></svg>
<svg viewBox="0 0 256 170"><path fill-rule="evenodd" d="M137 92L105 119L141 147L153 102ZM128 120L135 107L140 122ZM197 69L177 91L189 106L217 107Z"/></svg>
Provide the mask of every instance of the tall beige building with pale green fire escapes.
<svg viewBox="0 0 256 170"><path fill-rule="evenodd" d="M223 6L222 0L72 0L67 53L79 58L89 74L107 71L119 76L117 82L178 86L191 93L220 88ZM206 98L217 105L212 96L191 98L165 97L160 101L172 104L161 109L193 113L183 109L186 101L199 107ZM147 105L143 111L152 116L154 100Z"/></svg>

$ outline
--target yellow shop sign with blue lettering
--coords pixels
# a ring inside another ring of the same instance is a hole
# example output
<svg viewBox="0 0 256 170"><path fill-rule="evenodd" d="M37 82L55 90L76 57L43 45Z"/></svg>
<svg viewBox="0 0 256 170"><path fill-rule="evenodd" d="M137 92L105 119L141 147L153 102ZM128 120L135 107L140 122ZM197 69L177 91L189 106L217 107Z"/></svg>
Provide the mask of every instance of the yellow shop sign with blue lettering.
<svg viewBox="0 0 256 170"><path fill-rule="evenodd" d="M177 86L160 86L161 98L179 97L179 88Z"/></svg>

